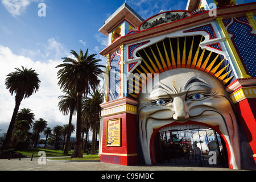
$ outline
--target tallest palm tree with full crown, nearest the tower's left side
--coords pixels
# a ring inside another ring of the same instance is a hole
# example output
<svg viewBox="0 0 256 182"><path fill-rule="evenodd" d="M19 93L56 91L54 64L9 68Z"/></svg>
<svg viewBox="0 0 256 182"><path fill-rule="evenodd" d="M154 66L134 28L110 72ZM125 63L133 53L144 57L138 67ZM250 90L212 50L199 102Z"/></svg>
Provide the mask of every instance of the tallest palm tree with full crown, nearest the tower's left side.
<svg viewBox="0 0 256 182"><path fill-rule="evenodd" d="M98 75L103 71L103 65L98 64L100 59L96 59L96 54L88 55L80 50L80 55L71 50L71 53L76 57L71 59L63 57L63 64L57 65L56 68L61 68L57 76L60 89L66 91L76 90L77 92L77 123L76 123L76 143L72 157L82 158L82 94L88 94L90 88L96 88L99 81Z"/></svg>

